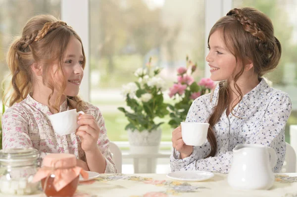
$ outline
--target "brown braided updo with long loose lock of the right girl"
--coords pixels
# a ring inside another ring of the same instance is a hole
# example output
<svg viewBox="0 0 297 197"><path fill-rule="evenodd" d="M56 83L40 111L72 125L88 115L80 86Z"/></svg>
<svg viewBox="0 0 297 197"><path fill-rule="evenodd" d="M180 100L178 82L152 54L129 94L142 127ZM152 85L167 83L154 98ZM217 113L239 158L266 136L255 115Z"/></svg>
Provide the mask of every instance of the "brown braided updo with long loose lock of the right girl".
<svg viewBox="0 0 297 197"><path fill-rule="evenodd" d="M214 24L210 30L208 42L210 36L216 31L222 33L226 48L235 56L236 62L241 61L240 63L242 63L245 60L250 60L253 63L253 72L259 79L278 65L282 53L281 44L274 36L271 20L259 10L250 7L230 10L227 16L222 17ZM235 73L235 70L232 80L234 89L239 94L237 102L239 103L243 99L243 93L236 81L242 76L245 68L242 66L239 73ZM211 152L207 157L213 157L216 153L217 142L213 127L231 101L230 81L221 81L219 86L217 104L208 118L207 139L211 146ZM231 104L232 114L236 104Z"/></svg>

